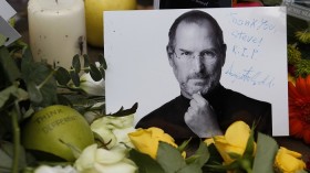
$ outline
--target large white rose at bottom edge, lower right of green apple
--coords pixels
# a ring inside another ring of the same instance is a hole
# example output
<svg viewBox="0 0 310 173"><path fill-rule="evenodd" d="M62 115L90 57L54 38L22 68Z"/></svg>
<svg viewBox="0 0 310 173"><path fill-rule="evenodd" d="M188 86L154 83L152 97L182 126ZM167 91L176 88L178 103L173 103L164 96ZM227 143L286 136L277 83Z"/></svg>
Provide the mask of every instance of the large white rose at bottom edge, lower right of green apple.
<svg viewBox="0 0 310 173"><path fill-rule="evenodd" d="M81 173L135 173L137 167L126 158L126 153L123 145L106 150L92 144L83 150L75 161L75 167Z"/></svg>

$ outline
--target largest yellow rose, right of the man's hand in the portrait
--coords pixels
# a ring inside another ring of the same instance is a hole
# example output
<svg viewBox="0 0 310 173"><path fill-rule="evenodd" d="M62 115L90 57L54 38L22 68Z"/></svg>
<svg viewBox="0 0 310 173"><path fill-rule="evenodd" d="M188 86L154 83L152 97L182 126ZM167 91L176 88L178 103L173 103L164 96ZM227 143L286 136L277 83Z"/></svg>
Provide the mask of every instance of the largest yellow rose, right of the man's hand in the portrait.
<svg viewBox="0 0 310 173"><path fill-rule="evenodd" d="M230 164L234 160L228 153L236 153L242 155L247 147L247 142L250 136L250 128L244 121L236 121L228 127L225 136L216 136L210 139L205 140L207 144L215 144L219 154L224 159L226 164Z"/></svg>

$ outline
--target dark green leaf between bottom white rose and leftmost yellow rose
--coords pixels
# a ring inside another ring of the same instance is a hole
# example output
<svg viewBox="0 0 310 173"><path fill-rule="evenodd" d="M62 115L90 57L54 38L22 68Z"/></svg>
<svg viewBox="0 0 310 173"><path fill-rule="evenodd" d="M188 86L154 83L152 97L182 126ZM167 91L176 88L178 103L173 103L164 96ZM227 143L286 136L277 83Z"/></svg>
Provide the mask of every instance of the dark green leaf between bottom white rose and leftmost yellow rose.
<svg viewBox="0 0 310 173"><path fill-rule="evenodd" d="M138 166L138 173L165 173L163 167L149 155L134 149L130 151L130 159Z"/></svg>

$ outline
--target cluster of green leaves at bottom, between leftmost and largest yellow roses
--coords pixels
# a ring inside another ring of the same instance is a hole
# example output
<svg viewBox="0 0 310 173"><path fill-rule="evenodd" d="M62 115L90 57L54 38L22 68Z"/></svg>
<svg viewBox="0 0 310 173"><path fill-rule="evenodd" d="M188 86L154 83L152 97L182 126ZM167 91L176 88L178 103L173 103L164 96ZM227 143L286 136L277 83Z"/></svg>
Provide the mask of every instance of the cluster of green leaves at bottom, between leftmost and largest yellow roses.
<svg viewBox="0 0 310 173"><path fill-rule="evenodd" d="M184 159L183 152L159 141L156 160L135 149L130 151L130 159L136 163L140 173L203 173L202 167L209 159L207 144L200 141L195 154L187 159Z"/></svg>

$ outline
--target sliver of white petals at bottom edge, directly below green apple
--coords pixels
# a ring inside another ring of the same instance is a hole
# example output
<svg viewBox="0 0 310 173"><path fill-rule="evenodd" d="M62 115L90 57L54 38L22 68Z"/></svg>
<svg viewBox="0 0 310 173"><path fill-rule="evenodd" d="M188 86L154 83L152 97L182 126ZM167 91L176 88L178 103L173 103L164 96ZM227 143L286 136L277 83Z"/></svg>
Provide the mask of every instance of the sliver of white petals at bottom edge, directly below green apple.
<svg viewBox="0 0 310 173"><path fill-rule="evenodd" d="M49 166L49 165L40 165L34 170L34 173L78 173L74 167L71 165L66 165L64 167L58 166Z"/></svg>

